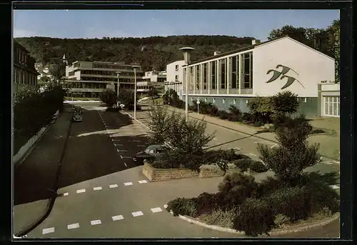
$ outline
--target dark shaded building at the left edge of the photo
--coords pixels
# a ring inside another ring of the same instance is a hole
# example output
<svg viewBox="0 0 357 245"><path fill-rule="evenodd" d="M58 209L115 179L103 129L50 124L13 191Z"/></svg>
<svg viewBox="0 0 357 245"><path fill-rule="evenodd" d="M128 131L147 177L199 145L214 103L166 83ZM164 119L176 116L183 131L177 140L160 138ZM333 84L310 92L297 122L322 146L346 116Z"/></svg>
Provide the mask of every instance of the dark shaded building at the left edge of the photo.
<svg viewBox="0 0 357 245"><path fill-rule="evenodd" d="M16 94L25 86L36 86L39 73L35 69L35 59L24 46L14 41L14 80L13 91Z"/></svg>

